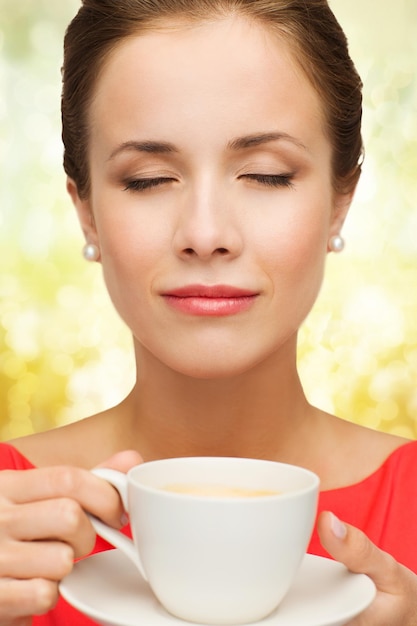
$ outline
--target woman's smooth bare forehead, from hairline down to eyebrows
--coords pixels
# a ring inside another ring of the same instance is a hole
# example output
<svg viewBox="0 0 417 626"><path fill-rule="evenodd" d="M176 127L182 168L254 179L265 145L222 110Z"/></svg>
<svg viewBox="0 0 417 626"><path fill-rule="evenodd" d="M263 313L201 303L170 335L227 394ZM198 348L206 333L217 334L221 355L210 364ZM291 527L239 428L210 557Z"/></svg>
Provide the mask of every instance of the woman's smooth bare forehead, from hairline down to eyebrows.
<svg viewBox="0 0 417 626"><path fill-rule="evenodd" d="M167 23L125 39L107 58L91 107L93 135L103 127L129 134L133 126L184 134L205 119L211 132L228 124L231 135L262 120L285 132L324 129L320 98L293 48L248 19Z"/></svg>

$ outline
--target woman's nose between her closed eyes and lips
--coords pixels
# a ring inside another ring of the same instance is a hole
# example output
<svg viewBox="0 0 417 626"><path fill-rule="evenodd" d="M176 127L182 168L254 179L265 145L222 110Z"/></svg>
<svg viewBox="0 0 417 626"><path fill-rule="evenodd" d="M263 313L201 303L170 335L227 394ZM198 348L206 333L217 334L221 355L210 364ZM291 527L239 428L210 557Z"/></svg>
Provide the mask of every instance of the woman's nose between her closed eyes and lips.
<svg viewBox="0 0 417 626"><path fill-rule="evenodd" d="M241 224L231 202L213 191L190 194L179 210L173 239L183 259L233 259L242 251Z"/></svg>

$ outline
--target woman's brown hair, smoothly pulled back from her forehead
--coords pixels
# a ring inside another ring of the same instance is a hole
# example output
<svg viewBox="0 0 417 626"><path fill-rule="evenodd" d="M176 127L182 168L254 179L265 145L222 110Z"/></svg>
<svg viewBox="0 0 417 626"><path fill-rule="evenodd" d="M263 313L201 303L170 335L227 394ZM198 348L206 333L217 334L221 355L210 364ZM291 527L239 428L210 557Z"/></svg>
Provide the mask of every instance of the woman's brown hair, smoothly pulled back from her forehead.
<svg viewBox="0 0 417 626"><path fill-rule="evenodd" d="M239 14L289 42L323 105L333 147L333 185L354 189L362 160L362 82L327 0L83 0L64 42L64 169L80 197L90 191L89 105L107 56L122 40L166 25Z"/></svg>

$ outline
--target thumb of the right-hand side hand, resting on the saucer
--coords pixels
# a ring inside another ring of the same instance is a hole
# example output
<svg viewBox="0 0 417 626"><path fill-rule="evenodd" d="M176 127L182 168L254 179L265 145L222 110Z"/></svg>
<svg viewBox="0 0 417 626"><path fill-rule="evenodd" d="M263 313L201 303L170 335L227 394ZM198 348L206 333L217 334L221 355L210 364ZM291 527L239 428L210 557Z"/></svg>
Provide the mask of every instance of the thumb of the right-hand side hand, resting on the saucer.
<svg viewBox="0 0 417 626"><path fill-rule="evenodd" d="M361 530L342 523L329 511L320 515L317 529L323 547L334 559L352 572L367 574L380 591L401 592L399 570L405 568L377 548Z"/></svg>

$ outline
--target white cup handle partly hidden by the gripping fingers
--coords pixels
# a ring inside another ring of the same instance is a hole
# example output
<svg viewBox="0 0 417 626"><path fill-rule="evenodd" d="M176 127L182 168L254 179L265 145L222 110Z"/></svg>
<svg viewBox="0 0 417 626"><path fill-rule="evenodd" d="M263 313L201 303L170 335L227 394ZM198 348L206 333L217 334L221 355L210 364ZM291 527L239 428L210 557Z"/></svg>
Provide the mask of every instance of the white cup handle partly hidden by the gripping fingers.
<svg viewBox="0 0 417 626"><path fill-rule="evenodd" d="M92 469L91 473L95 476L98 476L99 478L107 480L108 483L116 488L116 490L119 492L125 510L128 511L129 506L127 498L126 474L105 467L97 467L95 469ZM112 546L121 550L127 557L129 557L129 559L133 561L133 563L136 565L143 578L147 581L148 579L145 575L142 562L139 558L133 541L115 528L111 528L111 526L108 526L94 515L91 515L90 513L87 513L87 515L96 533L100 535L100 537L103 537L103 539L111 543Z"/></svg>

